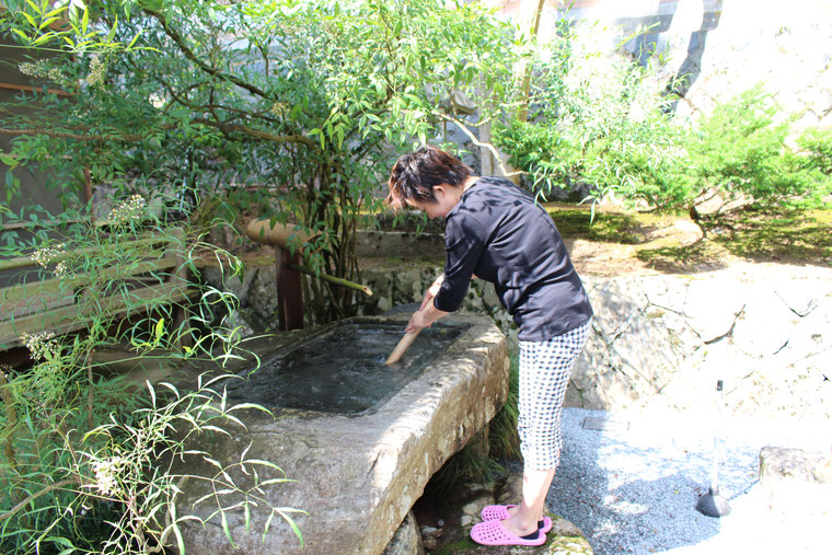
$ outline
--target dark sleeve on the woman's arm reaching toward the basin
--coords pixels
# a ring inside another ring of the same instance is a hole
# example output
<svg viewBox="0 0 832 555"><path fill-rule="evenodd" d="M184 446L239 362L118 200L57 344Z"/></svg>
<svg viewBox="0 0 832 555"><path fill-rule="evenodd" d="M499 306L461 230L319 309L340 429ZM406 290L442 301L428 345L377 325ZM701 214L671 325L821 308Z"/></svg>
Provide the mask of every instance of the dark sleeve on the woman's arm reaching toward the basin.
<svg viewBox="0 0 832 555"><path fill-rule="evenodd" d="M483 227L474 218L454 215L444 229L444 281L434 298L434 307L455 312L467 294L471 277L485 247Z"/></svg>

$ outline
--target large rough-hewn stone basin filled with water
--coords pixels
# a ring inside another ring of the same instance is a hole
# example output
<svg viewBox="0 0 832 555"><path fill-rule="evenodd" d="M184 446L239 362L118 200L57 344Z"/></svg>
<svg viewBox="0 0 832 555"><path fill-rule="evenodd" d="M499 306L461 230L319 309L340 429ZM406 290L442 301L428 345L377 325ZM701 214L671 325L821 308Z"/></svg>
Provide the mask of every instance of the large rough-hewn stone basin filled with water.
<svg viewBox="0 0 832 555"><path fill-rule="evenodd" d="M230 403L258 403L275 417L247 411L245 430L206 437L200 447L228 464L251 443L247 458L279 465L293 482L269 486L267 497L308 512L293 514L304 544L279 517L264 539L268 512L255 509L247 532L242 511L227 513L235 548L219 518L205 528L184 522L189 553L384 551L430 476L494 417L508 392L506 340L488 317L448 316L423 331L402 362L385 367L406 322L407 315L362 316L285 334L261 354L262 368L247 382L229 384ZM184 464L212 474L200 460ZM177 513L207 518L216 505L192 508L206 493L205 484L184 484Z"/></svg>

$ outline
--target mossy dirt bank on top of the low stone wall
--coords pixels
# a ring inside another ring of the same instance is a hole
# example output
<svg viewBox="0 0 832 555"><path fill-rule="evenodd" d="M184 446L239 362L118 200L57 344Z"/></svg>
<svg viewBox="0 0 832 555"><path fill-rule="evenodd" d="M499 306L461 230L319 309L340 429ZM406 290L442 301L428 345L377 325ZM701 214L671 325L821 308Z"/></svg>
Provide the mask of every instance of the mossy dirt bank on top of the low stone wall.
<svg viewBox="0 0 832 555"><path fill-rule="evenodd" d="M573 263L581 275L612 277L645 274L696 274L737 262L772 262L795 265L832 265L832 210L806 213L763 215L738 212L717 223L696 224L687 215L627 212L602 207L590 217L588 207L544 205L566 242ZM396 231L441 233L441 223L415 219L414 226ZM380 217L382 229L388 229ZM706 230L706 232L703 231ZM273 247L247 239L232 251L246 264L274 264ZM395 261L361 258L361 269L417 267L440 259L402 253Z"/></svg>

